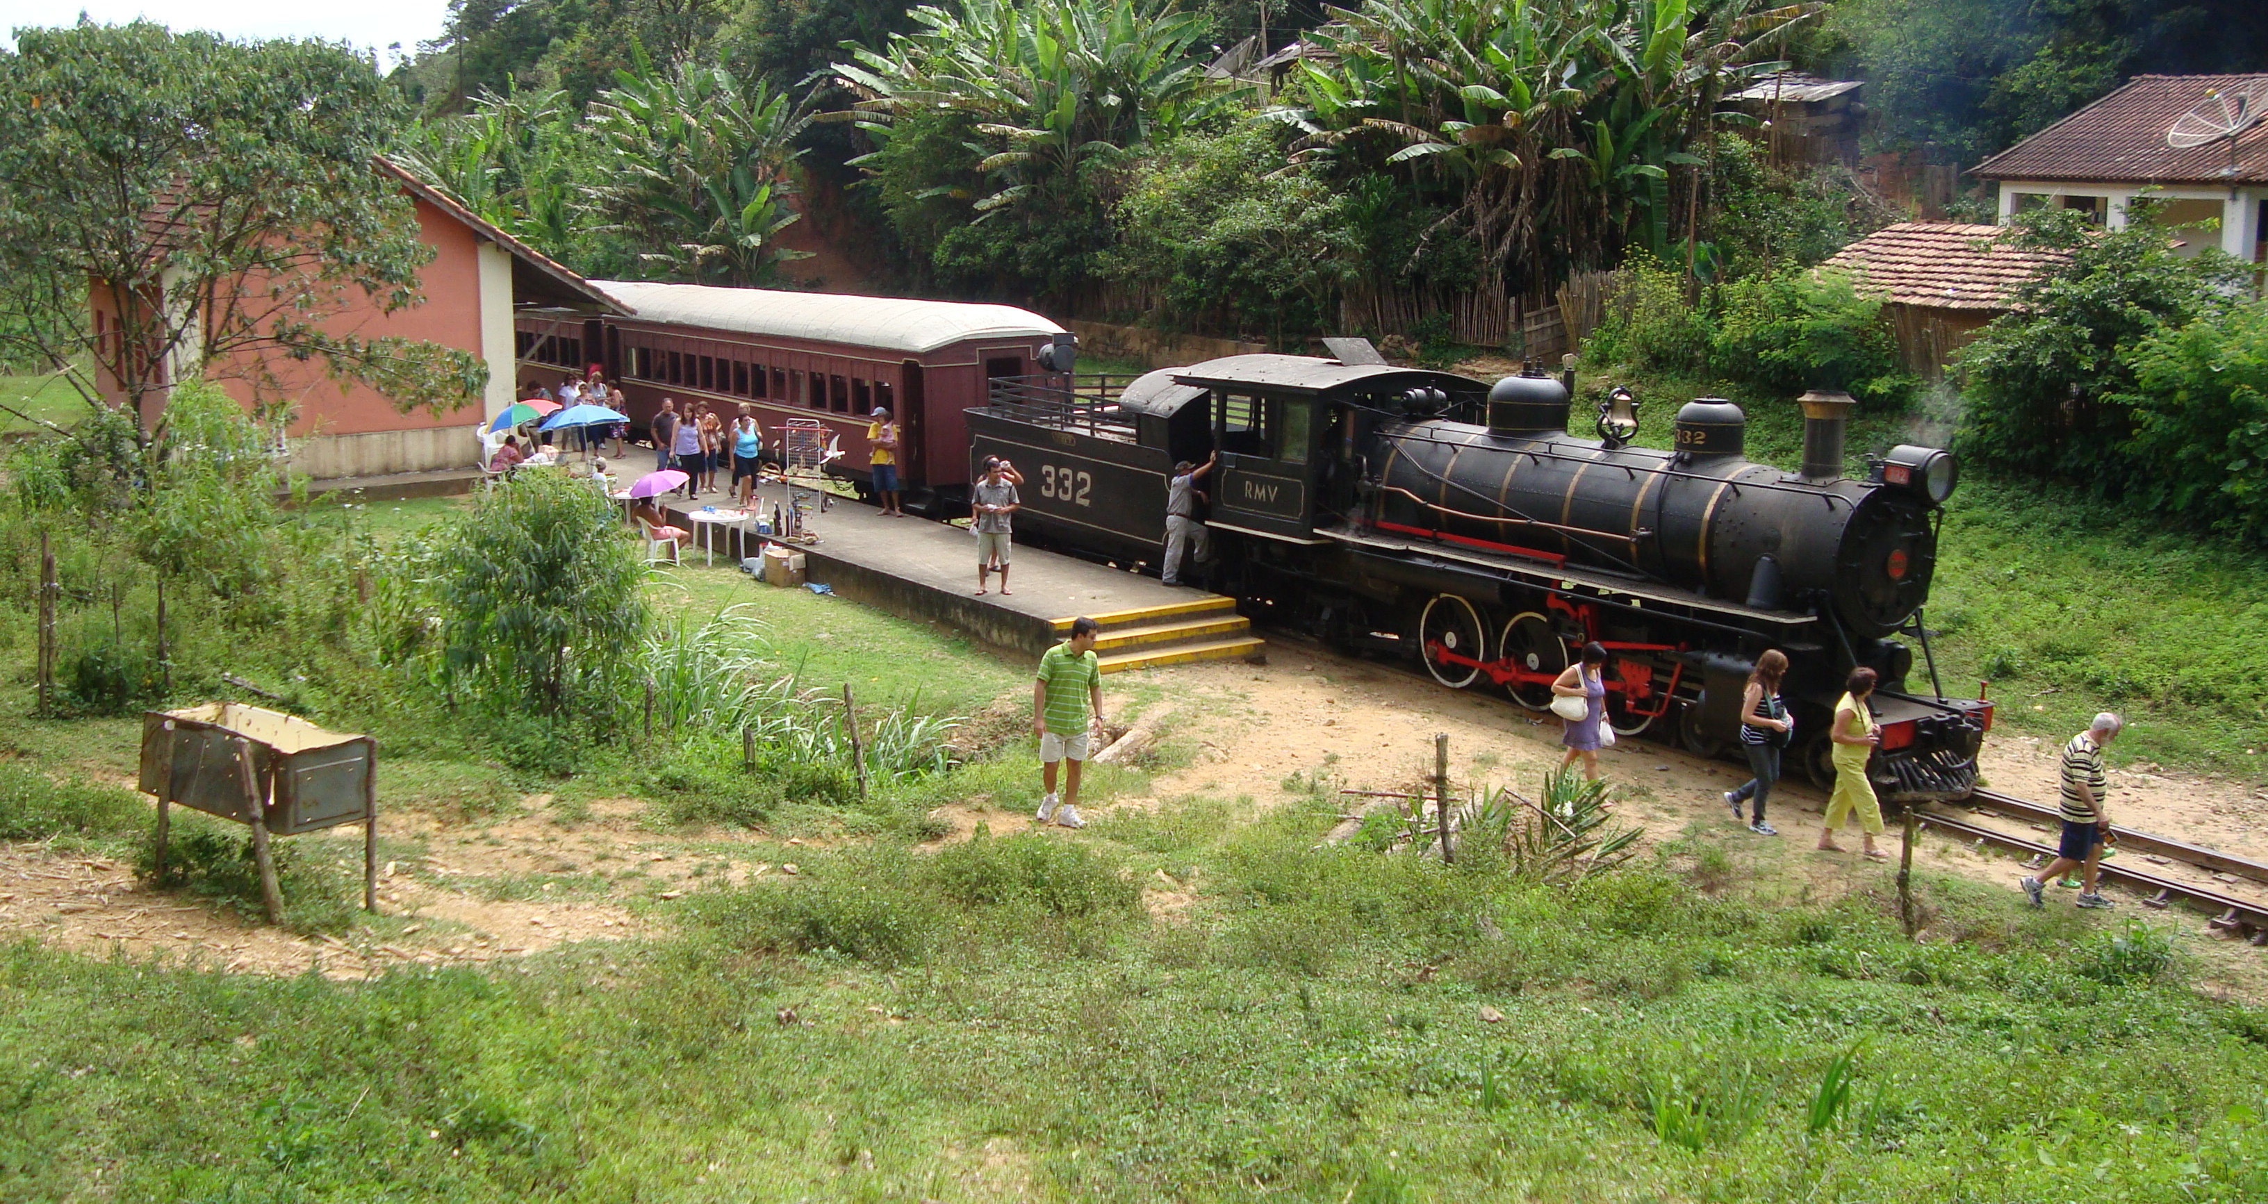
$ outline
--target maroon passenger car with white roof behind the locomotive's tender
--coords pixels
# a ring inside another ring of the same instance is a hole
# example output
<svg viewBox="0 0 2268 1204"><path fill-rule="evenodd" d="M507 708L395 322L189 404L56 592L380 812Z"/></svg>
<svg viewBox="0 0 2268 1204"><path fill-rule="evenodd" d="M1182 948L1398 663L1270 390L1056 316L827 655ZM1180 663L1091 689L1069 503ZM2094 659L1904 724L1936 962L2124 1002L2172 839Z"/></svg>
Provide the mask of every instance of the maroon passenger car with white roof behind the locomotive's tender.
<svg viewBox="0 0 2268 1204"><path fill-rule="evenodd" d="M866 415L889 406L903 426L898 478L912 508L953 508L968 490L962 410L989 404L993 376L1039 372L1034 354L1061 333L1014 306L776 292L701 283L592 281L626 317L567 311L519 315L519 374L556 383L599 365L621 388L633 426L676 397L730 419L755 408L764 447L778 424L816 417L841 435L835 472L866 483Z"/></svg>

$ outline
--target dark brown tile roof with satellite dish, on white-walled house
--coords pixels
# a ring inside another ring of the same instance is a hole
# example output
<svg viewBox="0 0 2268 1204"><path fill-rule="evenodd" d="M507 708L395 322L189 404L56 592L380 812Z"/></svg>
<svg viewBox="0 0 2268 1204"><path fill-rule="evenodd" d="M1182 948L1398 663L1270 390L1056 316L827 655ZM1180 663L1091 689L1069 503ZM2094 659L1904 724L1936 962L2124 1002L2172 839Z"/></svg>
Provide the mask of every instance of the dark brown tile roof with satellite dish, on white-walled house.
<svg viewBox="0 0 2268 1204"><path fill-rule="evenodd" d="M2268 122L2229 143L2173 150L2166 129L2207 93L2250 93L2268 107L2268 75L2136 75L2112 95L2071 113L2030 138L1971 168L1978 179L2043 179L2082 184L2268 184Z"/></svg>

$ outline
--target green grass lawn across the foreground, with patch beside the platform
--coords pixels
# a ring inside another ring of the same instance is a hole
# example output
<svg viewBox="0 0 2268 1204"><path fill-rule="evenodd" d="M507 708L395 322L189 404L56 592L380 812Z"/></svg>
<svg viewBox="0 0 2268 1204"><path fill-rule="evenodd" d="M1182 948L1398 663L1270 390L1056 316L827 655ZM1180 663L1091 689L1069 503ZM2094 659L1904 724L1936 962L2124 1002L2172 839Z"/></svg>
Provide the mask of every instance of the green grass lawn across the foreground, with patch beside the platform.
<svg viewBox="0 0 2268 1204"><path fill-rule="evenodd" d="M399 537L451 506L367 517ZM1030 673L730 569L651 590L687 619L746 605L773 669L878 710L968 712ZM134 857L136 732L0 730L0 837L45 841L7 853ZM542 791L565 837L631 798L683 855L801 866L646 880L617 900L640 936L370 982L0 946L0 1199L2268 1197L2268 1009L2191 986L2263 975L2193 923L1923 873L1907 941L1889 868L1801 841L1719 825L1540 884L1486 843L1454 868L1329 843L1315 794L1025 832L1023 748L866 800L755 798L719 732L626 732L565 780L442 737L388 753L386 805L447 848L503 843L485 825ZM1141 769L1089 787L1148 794ZM941 803L984 834L939 841ZM606 866L467 891L585 900L631 877ZM331 905L333 936L411 936Z"/></svg>

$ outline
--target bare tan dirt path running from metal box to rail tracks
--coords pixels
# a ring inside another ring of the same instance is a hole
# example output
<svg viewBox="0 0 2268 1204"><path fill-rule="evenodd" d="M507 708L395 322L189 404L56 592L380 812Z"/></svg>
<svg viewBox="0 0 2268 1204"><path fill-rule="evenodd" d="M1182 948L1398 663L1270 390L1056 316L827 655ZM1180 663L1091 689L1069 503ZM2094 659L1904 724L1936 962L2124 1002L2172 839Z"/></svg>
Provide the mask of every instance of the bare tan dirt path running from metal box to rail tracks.
<svg viewBox="0 0 2268 1204"><path fill-rule="evenodd" d="M1533 794L1542 773L1560 762L1556 719L1281 637L1270 637L1266 667L1191 664L1118 689L1141 694L1157 685L1166 687L1163 698L1148 703L1145 721L1163 728L1161 746L1182 769L1154 775L1145 796L1093 809L1154 807L1186 796L1277 807L1318 796L1359 812L1370 800L1340 791L1408 791L1431 778L1436 732L1449 737L1452 775L1461 787L1510 785ZM2041 739L1991 739L1987 780L2025 798L2053 798L2055 753L2057 746ZM1823 798L1805 785L1776 791L1771 819L1783 834L1774 839L1746 832L1726 814L1721 791L1746 778L1730 762L1624 739L1601 753L1601 769L1615 782L1619 814L1642 825L1649 841L1721 841L1742 859L1778 862L1805 891L1878 887L1876 866L1810 848ZM2157 773L2155 766L2118 771L2112 782L2125 823L2268 859L2263 791ZM492 821L386 816L388 846L415 855L386 864L381 916L313 939L245 923L227 907L184 893L147 891L129 866L107 857L41 843L0 846L0 934L36 936L93 957L122 950L240 973L367 977L399 964L485 964L651 934L660 927L649 918L653 902L717 880L739 884L796 873L798 846L823 843L782 843L760 832L651 832L637 823L644 809L642 800L615 798L560 814L551 796L538 794ZM937 814L950 823L948 841L966 837L978 821L993 830L1016 825L1016 816L987 807L941 807ZM354 866L349 877L358 875L358 832L295 837L304 855ZM1855 834L1846 846L1855 846ZM1896 839L1885 846L1894 850ZM2012 893L2019 873L2005 855L1937 837L1916 846L1916 862ZM1170 882L1145 884L1150 893L1161 918L1191 902ZM2232 970L2234 977L2259 970L2252 950L2234 946L2229 952L2250 955L2250 968Z"/></svg>

